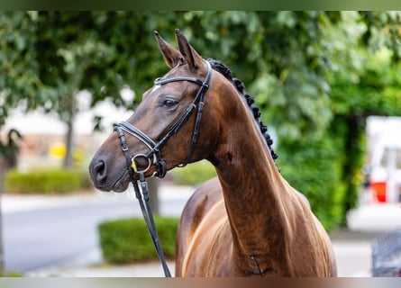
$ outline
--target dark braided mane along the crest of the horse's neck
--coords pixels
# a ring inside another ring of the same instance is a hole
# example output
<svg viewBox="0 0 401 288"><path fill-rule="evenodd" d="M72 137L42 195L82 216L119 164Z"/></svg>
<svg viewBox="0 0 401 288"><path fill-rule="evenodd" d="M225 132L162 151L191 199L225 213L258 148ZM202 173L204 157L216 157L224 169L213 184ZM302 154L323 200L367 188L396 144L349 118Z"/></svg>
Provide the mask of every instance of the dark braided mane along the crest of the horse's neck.
<svg viewBox="0 0 401 288"><path fill-rule="evenodd" d="M273 139L271 139L271 137L268 133L268 127L266 125L264 125L263 122L260 120L261 112L260 112L259 107L255 104L255 98L252 97L250 94L246 93L245 85L243 84L243 82L238 78L234 78L232 76L231 69L229 67L225 66L223 64L223 62L212 59L212 58L208 58L207 61L210 63L210 65L212 66L212 68L215 71L219 72L225 78L227 78L227 80L229 80L232 83L232 85L234 85L234 87L238 90L238 92L240 94L242 94L242 96L245 97L246 103L248 103L248 105L250 106L253 117L259 123L260 132L266 139L266 143L268 144L268 148L269 148L271 157L273 157L273 159L277 159L278 155L274 152L274 150L272 148Z"/></svg>

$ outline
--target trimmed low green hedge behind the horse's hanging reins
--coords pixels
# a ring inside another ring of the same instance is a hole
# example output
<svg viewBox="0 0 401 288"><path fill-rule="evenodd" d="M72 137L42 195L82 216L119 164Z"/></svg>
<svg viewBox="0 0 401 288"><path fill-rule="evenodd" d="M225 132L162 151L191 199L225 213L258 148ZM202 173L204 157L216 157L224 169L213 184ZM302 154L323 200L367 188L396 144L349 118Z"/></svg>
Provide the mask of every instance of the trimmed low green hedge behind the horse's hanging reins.
<svg viewBox="0 0 401 288"><path fill-rule="evenodd" d="M155 223L165 257L175 257L178 219L155 217ZM105 261L113 264L128 264L158 259L143 219L106 221L101 223L98 229L100 247Z"/></svg>

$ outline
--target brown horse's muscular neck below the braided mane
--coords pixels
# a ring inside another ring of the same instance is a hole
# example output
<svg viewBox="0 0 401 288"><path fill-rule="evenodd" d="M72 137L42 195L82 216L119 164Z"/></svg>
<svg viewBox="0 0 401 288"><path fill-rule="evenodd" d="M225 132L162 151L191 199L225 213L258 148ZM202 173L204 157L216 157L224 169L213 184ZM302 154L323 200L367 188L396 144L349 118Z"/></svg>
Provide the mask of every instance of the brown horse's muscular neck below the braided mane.
<svg viewBox="0 0 401 288"><path fill-rule="evenodd" d="M248 107L238 93L235 97L240 102L225 109L222 140L210 159L223 188L233 251L236 257L248 259L269 254L272 247L281 254L286 249L285 234L291 231L288 204L295 196L270 157Z"/></svg>

